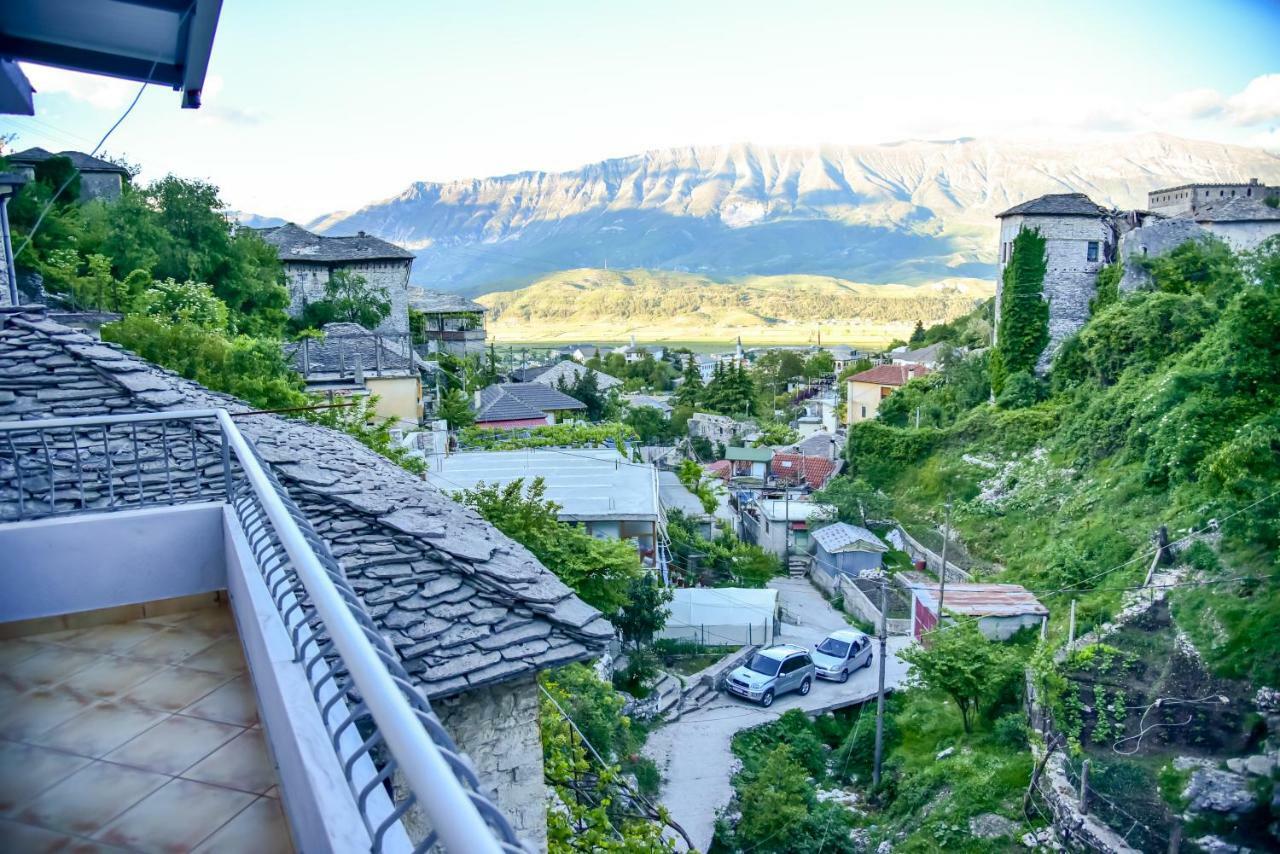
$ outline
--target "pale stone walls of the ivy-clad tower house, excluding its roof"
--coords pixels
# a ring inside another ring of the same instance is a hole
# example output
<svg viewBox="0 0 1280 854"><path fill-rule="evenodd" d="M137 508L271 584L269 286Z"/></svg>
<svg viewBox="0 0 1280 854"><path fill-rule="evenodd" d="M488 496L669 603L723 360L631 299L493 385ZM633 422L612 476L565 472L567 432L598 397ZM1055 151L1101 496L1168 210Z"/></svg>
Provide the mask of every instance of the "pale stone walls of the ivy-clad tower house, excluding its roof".
<svg viewBox="0 0 1280 854"><path fill-rule="evenodd" d="M1111 228L1092 216L1006 216L1000 223L1001 262L996 268L996 316L1004 297L1005 250L1024 229L1039 229L1044 236L1044 300L1048 302L1048 346L1036 370L1048 369L1064 339L1089 319L1089 301L1097 293L1098 270L1111 255ZM1089 242L1098 243L1097 259L1088 256Z"/></svg>

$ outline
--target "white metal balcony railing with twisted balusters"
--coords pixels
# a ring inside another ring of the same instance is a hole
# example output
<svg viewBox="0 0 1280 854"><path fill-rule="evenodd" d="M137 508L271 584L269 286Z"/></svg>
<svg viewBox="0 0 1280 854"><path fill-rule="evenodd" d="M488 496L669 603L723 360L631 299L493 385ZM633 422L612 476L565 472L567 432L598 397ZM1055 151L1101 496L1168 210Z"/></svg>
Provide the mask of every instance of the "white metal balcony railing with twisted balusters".
<svg viewBox="0 0 1280 854"><path fill-rule="evenodd" d="M372 850L383 849L415 804L433 828L417 851L436 844L451 851L526 850L328 545L225 410L0 423L0 455L3 521L229 503L312 688ZM375 773L362 778L361 767ZM394 794L397 775L407 796L389 814L371 814L370 795L378 787Z"/></svg>

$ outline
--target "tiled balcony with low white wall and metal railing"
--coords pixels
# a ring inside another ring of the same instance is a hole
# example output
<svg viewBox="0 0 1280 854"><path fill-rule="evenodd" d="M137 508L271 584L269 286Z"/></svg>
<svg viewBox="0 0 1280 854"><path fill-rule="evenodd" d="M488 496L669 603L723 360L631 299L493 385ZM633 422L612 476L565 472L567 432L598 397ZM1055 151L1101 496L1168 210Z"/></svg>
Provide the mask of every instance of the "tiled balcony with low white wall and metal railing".
<svg viewBox="0 0 1280 854"><path fill-rule="evenodd" d="M14 850L524 850L224 410L0 423Z"/></svg>

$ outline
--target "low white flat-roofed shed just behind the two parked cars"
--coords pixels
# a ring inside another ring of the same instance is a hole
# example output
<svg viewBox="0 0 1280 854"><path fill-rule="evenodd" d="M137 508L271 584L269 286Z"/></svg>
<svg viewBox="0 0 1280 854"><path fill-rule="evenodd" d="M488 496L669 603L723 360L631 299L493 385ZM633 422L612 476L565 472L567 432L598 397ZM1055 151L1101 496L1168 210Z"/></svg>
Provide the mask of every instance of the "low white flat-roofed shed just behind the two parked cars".
<svg viewBox="0 0 1280 854"><path fill-rule="evenodd" d="M764 588L676 588L659 638L709 647L772 644L778 592Z"/></svg>

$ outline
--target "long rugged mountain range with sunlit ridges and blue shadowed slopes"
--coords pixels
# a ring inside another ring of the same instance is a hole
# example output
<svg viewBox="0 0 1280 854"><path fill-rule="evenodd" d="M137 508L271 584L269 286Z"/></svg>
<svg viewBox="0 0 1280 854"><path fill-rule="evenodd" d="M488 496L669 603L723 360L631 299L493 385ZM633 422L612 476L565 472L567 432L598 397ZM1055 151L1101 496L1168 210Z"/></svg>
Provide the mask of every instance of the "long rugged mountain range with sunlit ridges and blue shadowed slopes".
<svg viewBox="0 0 1280 854"><path fill-rule="evenodd" d="M307 228L399 243L419 256L416 284L468 294L577 268L915 284L992 275L993 215L1042 193L1135 207L1158 187L1248 178L1280 183L1280 156L1158 133L1082 143L726 145L571 172L424 181Z"/></svg>

